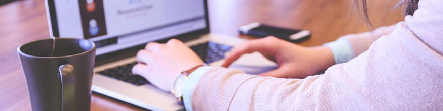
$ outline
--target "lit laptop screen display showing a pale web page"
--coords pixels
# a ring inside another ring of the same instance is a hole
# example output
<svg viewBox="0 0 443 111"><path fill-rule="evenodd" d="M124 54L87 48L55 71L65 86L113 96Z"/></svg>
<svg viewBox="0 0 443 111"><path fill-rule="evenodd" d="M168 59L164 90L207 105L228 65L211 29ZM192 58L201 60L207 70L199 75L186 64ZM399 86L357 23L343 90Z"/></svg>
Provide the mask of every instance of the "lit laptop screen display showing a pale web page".
<svg viewBox="0 0 443 111"><path fill-rule="evenodd" d="M47 0L54 37L85 38L97 55L209 30L202 0Z"/></svg>

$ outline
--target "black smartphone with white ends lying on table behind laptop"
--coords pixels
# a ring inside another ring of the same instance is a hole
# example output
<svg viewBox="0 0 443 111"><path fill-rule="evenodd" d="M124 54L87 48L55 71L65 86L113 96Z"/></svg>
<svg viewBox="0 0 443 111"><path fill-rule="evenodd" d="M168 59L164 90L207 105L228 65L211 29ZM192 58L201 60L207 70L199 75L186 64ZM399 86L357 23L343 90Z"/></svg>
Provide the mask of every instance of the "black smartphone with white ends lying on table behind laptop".
<svg viewBox="0 0 443 111"><path fill-rule="evenodd" d="M300 42L311 37L311 31L309 30L280 28L270 25L264 25L260 22L253 22L240 26L239 31L241 34L257 37L275 36L277 38L290 42Z"/></svg>

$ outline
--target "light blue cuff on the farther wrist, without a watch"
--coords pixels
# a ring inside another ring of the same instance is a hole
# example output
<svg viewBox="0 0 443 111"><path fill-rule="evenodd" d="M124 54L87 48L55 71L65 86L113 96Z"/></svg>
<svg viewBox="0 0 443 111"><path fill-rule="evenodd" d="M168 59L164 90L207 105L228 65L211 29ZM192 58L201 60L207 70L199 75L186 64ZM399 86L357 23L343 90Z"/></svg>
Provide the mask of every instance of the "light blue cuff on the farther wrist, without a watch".
<svg viewBox="0 0 443 111"><path fill-rule="evenodd" d="M335 64L346 63L354 58L351 44L346 39L325 43L324 46L331 49Z"/></svg>

